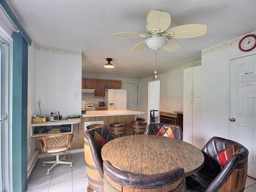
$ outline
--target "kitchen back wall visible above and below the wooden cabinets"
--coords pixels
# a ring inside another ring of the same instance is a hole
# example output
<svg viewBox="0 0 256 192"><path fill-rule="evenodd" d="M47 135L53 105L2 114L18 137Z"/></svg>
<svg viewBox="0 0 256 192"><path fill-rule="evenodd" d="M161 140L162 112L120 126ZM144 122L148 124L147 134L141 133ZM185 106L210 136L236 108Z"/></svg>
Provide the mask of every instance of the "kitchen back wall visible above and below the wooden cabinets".
<svg viewBox="0 0 256 192"><path fill-rule="evenodd" d="M122 82L139 82L138 78L124 77L119 75L106 75L106 74L82 73L82 78L118 80ZM97 105L99 101L104 101L104 97L94 96L93 93L82 93L82 100L93 100L93 103Z"/></svg>

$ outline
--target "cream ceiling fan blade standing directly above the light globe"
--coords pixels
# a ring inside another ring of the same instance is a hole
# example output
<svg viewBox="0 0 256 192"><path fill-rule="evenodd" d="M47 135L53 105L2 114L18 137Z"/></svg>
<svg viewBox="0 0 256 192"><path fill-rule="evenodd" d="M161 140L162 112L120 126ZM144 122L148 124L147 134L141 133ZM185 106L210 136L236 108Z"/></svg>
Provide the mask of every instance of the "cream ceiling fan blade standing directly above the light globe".
<svg viewBox="0 0 256 192"><path fill-rule="evenodd" d="M148 26L155 32L164 32L170 26L170 15L163 11L150 11L146 18Z"/></svg>

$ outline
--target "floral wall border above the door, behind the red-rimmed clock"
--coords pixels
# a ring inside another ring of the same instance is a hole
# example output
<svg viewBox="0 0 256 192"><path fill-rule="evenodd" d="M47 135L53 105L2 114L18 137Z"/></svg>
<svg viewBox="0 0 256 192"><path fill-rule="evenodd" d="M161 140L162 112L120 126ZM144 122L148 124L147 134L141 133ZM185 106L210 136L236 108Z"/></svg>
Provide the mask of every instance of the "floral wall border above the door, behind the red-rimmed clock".
<svg viewBox="0 0 256 192"><path fill-rule="evenodd" d="M254 32L251 32L251 33L247 33L245 35L248 35L248 34L254 34L256 35L256 31ZM203 49L202 50L202 55L205 55L207 53L212 53L212 52L215 52L215 51L218 51L218 50L221 50L221 49L225 49L227 47L231 47L231 46L235 46L235 45L238 45L239 44L239 41L245 36L245 35L241 35L239 37L236 37L236 38L233 38L233 39L230 39L228 41L225 41L225 42L222 42L221 44L218 44L216 46L212 46L212 47L209 47L207 49Z"/></svg>

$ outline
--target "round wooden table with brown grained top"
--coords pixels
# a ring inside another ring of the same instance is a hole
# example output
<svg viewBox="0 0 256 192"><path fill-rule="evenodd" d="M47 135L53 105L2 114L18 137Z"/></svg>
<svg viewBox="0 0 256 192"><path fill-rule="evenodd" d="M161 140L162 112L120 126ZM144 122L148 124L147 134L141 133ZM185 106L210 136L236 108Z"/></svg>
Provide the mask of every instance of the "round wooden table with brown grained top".
<svg viewBox="0 0 256 192"><path fill-rule="evenodd" d="M183 167L185 176L196 173L204 163L199 148L178 139L155 135L131 135L106 143L101 151L120 170L140 174L164 173Z"/></svg>

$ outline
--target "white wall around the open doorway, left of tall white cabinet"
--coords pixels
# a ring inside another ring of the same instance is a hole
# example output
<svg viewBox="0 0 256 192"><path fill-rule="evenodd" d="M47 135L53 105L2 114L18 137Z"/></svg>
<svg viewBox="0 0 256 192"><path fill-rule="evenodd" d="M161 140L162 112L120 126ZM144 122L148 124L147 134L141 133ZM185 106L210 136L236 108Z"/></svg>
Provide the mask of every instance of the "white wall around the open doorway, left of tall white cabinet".
<svg viewBox="0 0 256 192"><path fill-rule="evenodd" d="M158 74L160 80L160 111L183 111L183 69ZM147 83L153 80L153 75L140 78L139 81L139 110L147 112ZM142 117L147 119L145 114ZM149 122L147 120L147 122Z"/></svg>

